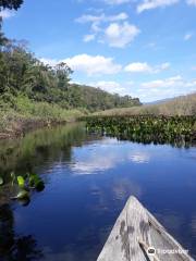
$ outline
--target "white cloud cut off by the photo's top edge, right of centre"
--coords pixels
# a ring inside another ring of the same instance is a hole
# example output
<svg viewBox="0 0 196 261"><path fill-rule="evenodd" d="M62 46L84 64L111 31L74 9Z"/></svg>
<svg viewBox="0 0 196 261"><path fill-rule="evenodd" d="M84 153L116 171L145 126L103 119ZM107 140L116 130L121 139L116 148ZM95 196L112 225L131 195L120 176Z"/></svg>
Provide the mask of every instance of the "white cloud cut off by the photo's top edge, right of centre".
<svg viewBox="0 0 196 261"><path fill-rule="evenodd" d="M142 13L146 10L164 8L177 3L180 0L144 0L137 5L137 12ZM194 0L191 0L194 1Z"/></svg>

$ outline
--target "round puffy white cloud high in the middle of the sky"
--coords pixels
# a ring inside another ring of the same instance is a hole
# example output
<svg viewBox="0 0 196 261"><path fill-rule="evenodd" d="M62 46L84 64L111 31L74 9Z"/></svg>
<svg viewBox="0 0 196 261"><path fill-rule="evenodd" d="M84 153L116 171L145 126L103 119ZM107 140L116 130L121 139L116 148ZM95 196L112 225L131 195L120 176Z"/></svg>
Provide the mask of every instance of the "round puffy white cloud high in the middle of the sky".
<svg viewBox="0 0 196 261"><path fill-rule="evenodd" d="M140 30L127 22L111 23L105 30L103 42L111 47L124 48L131 44Z"/></svg>

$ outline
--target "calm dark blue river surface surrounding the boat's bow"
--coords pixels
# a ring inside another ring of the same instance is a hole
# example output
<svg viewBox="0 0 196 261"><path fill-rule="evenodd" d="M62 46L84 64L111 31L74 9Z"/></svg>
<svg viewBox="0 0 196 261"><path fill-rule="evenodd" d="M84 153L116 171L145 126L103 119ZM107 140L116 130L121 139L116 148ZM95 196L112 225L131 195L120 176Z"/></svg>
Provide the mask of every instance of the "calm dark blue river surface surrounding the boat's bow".
<svg viewBox="0 0 196 261"><path fill-rule="evenodd" d="M10 172L46 183L10 201ZM94 261L131 195L196 257L196 148L118 141L83 124L0 142L0 260Z"/></svg>

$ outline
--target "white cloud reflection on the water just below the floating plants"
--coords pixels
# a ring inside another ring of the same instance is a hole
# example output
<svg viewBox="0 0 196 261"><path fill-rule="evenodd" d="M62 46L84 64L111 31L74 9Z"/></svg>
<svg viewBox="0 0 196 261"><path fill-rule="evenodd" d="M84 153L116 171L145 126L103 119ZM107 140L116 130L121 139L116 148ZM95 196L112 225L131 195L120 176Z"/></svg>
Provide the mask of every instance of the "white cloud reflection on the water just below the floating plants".
<svg viewBox="0 0 196 261"><path fill-rule="evenodd" d="M121 154L119 150L122 149ZM88 153L86 151L88 150ZM95 174L114 169L126 161L133 163L148 163L150 154L146 151L130 149L126 142L119 141L114 138L103 138L98 144L88 145L73 151L74 164L71 165L73 172L78 175Z"/></svg>

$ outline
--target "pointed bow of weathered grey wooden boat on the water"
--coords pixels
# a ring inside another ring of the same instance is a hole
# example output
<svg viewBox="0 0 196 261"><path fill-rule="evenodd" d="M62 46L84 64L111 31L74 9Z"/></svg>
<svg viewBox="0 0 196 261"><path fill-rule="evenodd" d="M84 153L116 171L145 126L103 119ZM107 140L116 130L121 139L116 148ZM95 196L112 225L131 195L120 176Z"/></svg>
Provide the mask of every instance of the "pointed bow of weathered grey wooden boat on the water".
<svg viewBox="0 0 196 261"><path fill-rule="evenodd" d="M149 254L149 247L156 249L155 254ZM166 253L164 250L176 252ZM148 210L135 197L131 197L97 261L147 260L194 261Z"/></svg>

